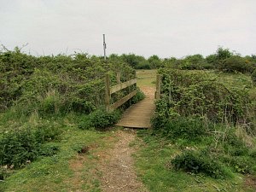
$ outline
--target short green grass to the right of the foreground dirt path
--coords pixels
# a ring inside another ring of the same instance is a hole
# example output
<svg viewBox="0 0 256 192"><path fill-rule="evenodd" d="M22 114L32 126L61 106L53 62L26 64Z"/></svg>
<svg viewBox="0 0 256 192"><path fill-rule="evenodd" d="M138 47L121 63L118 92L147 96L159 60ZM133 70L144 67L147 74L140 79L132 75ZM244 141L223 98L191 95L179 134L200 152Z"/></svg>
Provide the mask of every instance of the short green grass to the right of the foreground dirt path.
<svg viewBox="0 0 256 192"><path fill-rule="evenodd" d="M134 155L137 173L149 191L254 191L246 186L245 177L236 174L225 179L214 179L202 174L178 172L172 170L170 160L180 153L177 145L160 137L154 137L151 131L139 131L142 139L135 143L139 149Z"/></svg>

